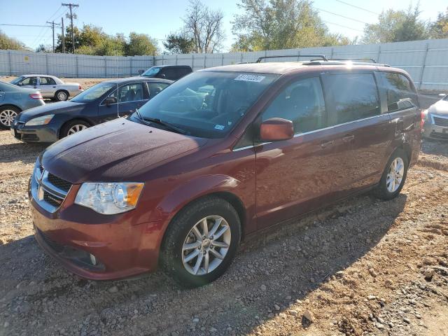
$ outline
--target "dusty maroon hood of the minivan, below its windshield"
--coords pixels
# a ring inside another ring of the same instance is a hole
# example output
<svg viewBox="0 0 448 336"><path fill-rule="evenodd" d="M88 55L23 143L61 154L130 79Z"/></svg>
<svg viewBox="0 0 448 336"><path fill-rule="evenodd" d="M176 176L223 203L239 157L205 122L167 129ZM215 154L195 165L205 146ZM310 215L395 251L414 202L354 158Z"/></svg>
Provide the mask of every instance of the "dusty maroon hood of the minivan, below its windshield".
<svg viewBox="0 0 448 336"><path fill-rule="evenodd" d="M120 118L57 141L45 150L41 163L71 183L144 181L148 170L206 143Z"/></svg>

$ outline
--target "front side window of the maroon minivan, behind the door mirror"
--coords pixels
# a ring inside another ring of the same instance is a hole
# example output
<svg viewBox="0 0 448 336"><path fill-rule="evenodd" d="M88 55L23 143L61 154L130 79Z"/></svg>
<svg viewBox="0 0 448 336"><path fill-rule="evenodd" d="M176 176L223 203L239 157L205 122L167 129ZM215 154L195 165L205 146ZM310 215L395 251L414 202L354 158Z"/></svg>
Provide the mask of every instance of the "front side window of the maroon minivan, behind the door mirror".
<svg viewBox="0 0 448 336"><path fill-rule="evenodd" d="M290 84L263 113L263 121L269 118L291 120L296 134L325 127L321 80L305 78Z"/></svg>

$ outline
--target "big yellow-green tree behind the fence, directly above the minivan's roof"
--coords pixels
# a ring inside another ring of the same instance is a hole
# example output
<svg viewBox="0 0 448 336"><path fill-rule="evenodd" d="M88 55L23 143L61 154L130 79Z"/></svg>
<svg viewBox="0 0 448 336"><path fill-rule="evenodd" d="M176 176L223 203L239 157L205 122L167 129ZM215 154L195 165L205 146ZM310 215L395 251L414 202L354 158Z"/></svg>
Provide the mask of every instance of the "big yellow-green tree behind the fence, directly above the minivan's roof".
<svg viewBox="0 0 448 336"><path fill-rule="evenodd" d="M243 12L232 22L233 51L307 48L348 44L330 34L309 0L240 0Z"/></svg>

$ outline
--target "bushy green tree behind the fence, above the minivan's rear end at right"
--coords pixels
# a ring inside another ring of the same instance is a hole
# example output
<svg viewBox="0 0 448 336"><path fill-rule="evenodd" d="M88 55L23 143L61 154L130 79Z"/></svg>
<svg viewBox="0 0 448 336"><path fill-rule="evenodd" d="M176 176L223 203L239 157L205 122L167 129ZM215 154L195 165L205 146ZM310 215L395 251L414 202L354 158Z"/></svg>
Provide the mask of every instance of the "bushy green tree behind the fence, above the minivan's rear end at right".
<svg viewBox="0 0 448 336"><path fill-rule="evenodd" d="M378 23L366 25L363 43L387 43L425 40L430 37L429 25L421 20L419 4L414 9L386 10L378 17Z"/></svg>

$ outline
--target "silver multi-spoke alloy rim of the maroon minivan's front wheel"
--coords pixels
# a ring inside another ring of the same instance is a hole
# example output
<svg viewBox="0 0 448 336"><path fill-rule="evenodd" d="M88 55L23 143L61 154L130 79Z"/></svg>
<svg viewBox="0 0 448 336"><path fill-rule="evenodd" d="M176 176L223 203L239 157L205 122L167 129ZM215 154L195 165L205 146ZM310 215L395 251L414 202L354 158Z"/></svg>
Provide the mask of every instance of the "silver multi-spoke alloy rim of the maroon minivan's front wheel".
<svg viewBox="0 0 448 336"><path fill-rule="evenodd" d="M228 253L232 233L221 216L202 218L188 232L182 246L183 267L193 275L213 272Z"/></svg>

